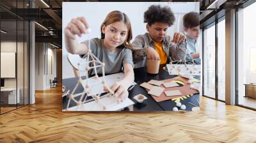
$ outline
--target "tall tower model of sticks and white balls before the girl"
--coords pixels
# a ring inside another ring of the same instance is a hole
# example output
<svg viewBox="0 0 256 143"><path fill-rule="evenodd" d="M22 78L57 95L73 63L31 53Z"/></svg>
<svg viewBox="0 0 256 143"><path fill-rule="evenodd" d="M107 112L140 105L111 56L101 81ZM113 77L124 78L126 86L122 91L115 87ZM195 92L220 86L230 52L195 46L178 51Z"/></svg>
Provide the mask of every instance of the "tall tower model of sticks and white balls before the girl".
<svg viewBox="0 0 256 143"><path fill-rule="evenodd" d="M85 66L85 69L81 70L80 66L82 62L84 63L83 59L85 59L86 66ZM68 111L70 109L70 103L72 101L76 103L76 107L78 108L78 107L86 106L85 103L92 102L93 100L96 103L99 103L100 105L102 105L102 110L106 110L107 106L111 106L111 105L105 105L104 103L101 102L101 99L107 96L109 98L113 98L113 100L115 100L115 104L118 103L118 100L114 91L112 91L106 83L105 64L102 63L96 56L92 54L92 50L90 50L90 42L89 42L88 52L83 56L83 59L81 59L81 61L77 63L77 66L78 66L77 75L79 79L77 80L77 84L72 90L72 92L70 93L69 90L65 92L66 89L65 87L63 87L63 94L64 94L63 96L68 97L66 110ZM97 68L101 68L102 77L99 77L97 73ZM89 78L90 70L93 70L95 75ZM84 72L84 71L85 71L85 79L82 79L81 72ZM93 83L88 81L89 79L93 79ZM101 87L103 86L104 90L107 91L107 93L102 96L100 96L102 94L100 90L99 90L99 93L97 94L95 94L95 91L91 90L92 86L99 86L99 84L101 85ZM76 89L79 85L83 86L83 92L75 94ZM92 97L92 98L88 100L88 97Z"/></svg>

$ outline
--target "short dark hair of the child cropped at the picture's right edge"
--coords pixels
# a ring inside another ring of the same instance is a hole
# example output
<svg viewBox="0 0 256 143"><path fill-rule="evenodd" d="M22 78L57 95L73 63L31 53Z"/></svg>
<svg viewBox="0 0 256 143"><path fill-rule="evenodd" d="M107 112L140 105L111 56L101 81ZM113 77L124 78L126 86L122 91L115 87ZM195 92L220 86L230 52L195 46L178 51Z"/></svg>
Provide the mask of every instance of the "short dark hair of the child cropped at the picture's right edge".
<svg viewBox="0 0 256 143"><path fill-rule="evenodd" d="M183 26L186 28L192 28L199 26L199 13L191 11L186 13L183 17Z"/></svg>

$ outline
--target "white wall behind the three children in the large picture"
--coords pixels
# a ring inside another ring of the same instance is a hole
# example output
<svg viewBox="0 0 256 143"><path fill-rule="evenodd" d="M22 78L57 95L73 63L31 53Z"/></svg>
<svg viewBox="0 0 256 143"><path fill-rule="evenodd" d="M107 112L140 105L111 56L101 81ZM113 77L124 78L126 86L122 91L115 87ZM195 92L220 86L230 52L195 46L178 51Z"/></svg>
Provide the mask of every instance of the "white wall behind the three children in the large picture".
<svg viewBox="0 0 256 143"><path fill-rule="evenodd" d="M172 27L168 29L168 34L173 36L174 32L182 31L182 22L180 21L185 13L189 11L197 11L199 12L199 3L172 3L172 2L102 2L102 3L77 3L77 2L63 2L63 10L62 10L62 29L64 29L68 22L71 19L76 17L85 17L88 20L90 28L92 29L92 33L90 35L83 35L81 38L77 37L78 41L84 41L88 38L100 38L100 25L105 19L106 15L110 11L120 10L128 15L131 20L132 25L132 35L134 38L138 34L144 34L146 32L145 23L143 22L144 12L148 9L152 4L161 4L168 5L172 8L175 13L175 23ZM79 11L79 12L73 12ZM64 34L62 34L64 36ZM63 45L63 79L74 77L74 73L72 71L72 67L67 61L67 50L65 49L64 38L62 37L62 45Z"/></svg>

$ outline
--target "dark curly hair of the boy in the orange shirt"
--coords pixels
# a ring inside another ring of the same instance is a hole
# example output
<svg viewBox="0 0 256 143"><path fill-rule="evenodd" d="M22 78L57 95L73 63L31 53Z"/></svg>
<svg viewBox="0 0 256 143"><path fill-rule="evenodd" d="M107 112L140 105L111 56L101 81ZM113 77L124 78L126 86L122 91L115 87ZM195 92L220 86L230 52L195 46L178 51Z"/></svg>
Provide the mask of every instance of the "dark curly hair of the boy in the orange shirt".
<svg viewBox="0 0 256 143"><path fill-rule="evenodd" d="M168 6L152 5L144 13L144 22L149 26L155 22L162 22L172 26L174 21L174 13Z"/></svg>

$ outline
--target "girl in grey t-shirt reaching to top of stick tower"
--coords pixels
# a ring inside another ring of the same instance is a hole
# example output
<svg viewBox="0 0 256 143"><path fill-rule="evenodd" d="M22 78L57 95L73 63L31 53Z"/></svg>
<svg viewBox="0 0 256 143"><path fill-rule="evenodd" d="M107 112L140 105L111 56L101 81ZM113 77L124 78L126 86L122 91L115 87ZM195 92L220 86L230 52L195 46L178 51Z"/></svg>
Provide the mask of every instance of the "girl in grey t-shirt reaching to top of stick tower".
<svg viewBox="0 0 256 143"><path fill-rule="evenodd" d="M76 35L81 36L88 32L89 24L84 17L72 19L65 27L65 44L71 54L79 54L83 57L90 49L100 61L105 63L105 73L118 73L124 66L124 79L111 86L118 100L122 102L128 97L128 87L134 81L132 62L131 22L125 13L111 11L100 26L101 38L92 38L79 43ZM97 68L97 73L102 74Z"/></svg>

